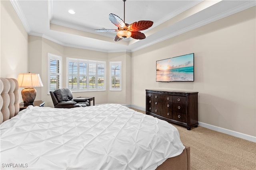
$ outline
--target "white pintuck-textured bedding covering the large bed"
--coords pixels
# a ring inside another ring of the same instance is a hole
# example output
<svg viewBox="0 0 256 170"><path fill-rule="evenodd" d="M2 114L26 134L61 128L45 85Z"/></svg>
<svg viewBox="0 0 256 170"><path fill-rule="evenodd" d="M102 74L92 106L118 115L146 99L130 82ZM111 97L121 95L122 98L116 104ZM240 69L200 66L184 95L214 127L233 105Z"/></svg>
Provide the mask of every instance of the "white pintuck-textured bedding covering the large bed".
<svg viewBox="0 0 256 170"><path fill-rule="evenodd" d="M118 104L29 106L0 132L1 169L155 169L184 149L170 123Z"/></svg>

